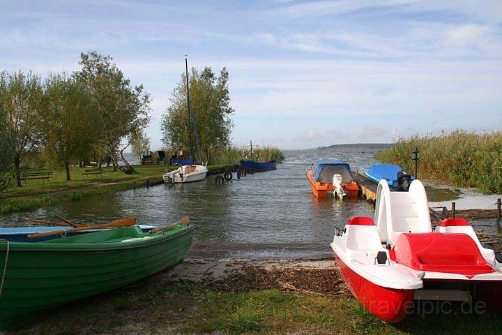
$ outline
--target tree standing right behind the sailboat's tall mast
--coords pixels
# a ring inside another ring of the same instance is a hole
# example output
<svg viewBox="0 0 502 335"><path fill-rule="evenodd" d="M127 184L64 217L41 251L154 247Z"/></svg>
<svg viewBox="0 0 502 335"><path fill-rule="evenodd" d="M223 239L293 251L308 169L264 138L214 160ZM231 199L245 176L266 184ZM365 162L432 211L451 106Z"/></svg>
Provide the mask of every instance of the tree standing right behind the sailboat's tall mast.
<svg viewBox="0 0 502 335"><path fill-rule="evenodd" d="M190 75L191 112L195 117L201 150L208 162L213 149L225 147L230 142L233 127L231 114L234 109L230 106L228 79L227 68L222 68L220 77L216 77L209 67L201 73L192 68ZM182 74L181 81L172 93L171 105L162 117L162 140L168 147L190 146L186 98L186 77Z"/></svg>

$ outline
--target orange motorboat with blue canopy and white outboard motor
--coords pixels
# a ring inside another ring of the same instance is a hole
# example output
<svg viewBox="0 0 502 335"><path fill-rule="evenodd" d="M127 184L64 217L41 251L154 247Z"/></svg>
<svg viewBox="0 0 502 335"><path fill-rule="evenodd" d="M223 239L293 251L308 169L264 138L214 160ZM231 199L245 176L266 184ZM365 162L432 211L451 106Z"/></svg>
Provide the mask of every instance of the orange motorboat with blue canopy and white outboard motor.
<svg viewBox="0 0 502 335"><path fill-rule="evenodd" d="M352 179L350 165L337 159L319 159L310 166L307 179L312 186L312 193L317 198L327 198L333 195L333 191L337 191L339 198L343 198L344 195L356 198L359 193L359 186ZM335 184L335 188L333 179L339 183Z"/></svg>

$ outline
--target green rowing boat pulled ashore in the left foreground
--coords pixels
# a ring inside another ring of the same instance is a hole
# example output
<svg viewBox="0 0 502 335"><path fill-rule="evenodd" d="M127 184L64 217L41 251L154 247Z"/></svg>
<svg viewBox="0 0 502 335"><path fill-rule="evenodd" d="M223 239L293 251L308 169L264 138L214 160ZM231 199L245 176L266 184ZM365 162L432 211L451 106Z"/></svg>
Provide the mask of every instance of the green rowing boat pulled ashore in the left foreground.
<svg viewBox="0 0 502 335"><path fill-rule="evenodd" d="M144 234L137 227L93 232L47 242L0 241L0 329L68 301L121 288L181 262L193 227Z"/></svg>

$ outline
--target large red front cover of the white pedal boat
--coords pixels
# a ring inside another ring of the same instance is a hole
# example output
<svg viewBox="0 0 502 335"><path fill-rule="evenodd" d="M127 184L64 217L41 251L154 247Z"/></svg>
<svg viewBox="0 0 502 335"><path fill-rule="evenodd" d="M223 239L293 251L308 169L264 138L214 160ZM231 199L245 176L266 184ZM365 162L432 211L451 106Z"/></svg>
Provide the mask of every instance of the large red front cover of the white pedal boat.
<svg viewBox="0 0 502 335"><path fill-rule="evenodd" d="M397 263L420 271L464 276L494 272L468 234L403 233L397 237L389 256Z"/></svg>

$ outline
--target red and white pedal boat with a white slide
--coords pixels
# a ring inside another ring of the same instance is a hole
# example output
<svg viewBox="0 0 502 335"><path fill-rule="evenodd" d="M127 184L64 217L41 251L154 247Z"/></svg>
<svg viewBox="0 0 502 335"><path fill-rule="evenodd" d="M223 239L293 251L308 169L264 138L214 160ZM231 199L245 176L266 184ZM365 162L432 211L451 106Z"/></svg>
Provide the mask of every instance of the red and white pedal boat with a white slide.
<svg viewBox="0 0 502 335"><path fill-rule="evenodd" d="M399 322L413 300L485 301L502 311L500 255L462 218L432 231L423 184L390 192L380 181L374 220L351 218L331 247L353 295L384 322Z"/></svg>

